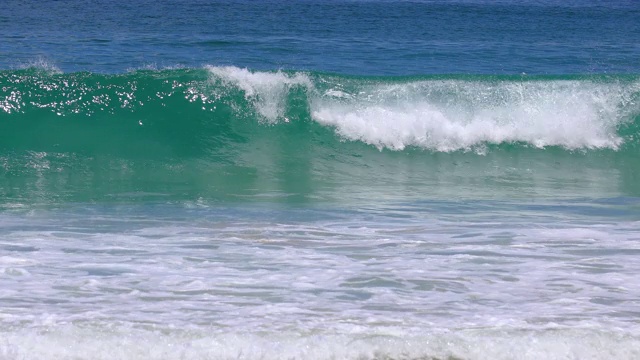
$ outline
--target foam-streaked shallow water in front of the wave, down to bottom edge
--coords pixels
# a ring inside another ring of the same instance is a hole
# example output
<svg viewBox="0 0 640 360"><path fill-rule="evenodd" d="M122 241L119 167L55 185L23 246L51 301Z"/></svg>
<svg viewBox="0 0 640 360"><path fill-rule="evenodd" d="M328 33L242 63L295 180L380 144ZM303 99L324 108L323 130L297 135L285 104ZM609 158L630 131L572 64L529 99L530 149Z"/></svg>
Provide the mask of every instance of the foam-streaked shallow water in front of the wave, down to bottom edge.
<svg viewBox="0 0 640 360"><path fill-rule="evenodd" d="M462 205L17 208L0 358L640 356L640 223Z"/></svg>

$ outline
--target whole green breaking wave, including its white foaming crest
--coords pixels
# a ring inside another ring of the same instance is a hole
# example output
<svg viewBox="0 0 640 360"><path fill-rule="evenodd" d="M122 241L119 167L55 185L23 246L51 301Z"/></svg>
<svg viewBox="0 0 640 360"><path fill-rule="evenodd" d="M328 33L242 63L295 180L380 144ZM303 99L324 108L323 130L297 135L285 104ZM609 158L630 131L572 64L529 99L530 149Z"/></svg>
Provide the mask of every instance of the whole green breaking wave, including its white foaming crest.
<svg viewBox="0 0 640 360"><path fill-rule="evenodd" d="M0 72L0 91L3 188L15 199L306 196L349 179L406 185L454 168L478 179L487 166L548 175L558 163L604 179L637 167L640 144L635 75L30 68Z"/></svg>

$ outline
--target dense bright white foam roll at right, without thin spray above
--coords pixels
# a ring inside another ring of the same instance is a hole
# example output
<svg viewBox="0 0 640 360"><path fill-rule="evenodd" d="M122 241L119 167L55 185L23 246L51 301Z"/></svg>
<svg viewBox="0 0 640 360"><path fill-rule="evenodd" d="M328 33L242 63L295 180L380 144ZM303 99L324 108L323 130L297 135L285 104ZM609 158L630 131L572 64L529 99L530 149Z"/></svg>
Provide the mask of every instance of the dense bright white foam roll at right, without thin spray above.
<svg viewBox="0 0 640 360"><path fill-rule="evenodd" d="M345 139L363 141L379 149L416 146L450 152L516 142L570 150L620 146L617 124L608 121L618 116L610 109L560 97L498 106L472 104L466 109L464 104L456 109L458 105L443 107L425 100L393 105L325 103L316 108L313 117L335 127ZM558 100L563 103L558 104Z"/></svg>

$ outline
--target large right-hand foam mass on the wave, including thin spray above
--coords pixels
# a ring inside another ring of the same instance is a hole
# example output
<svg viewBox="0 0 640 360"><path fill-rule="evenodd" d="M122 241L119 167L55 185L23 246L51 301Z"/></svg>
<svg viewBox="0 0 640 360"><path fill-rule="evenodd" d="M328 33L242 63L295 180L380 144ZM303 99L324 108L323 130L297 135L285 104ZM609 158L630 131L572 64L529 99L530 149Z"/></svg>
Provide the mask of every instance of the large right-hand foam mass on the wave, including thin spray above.
<svg viewBox="0 0 640 360"><path fill-rule="evenodd" d="M617 149L632 90L588 81L421 81L370 85L354 100L325 96L313 118L380 149L473 150L484 144Z"/></svg>

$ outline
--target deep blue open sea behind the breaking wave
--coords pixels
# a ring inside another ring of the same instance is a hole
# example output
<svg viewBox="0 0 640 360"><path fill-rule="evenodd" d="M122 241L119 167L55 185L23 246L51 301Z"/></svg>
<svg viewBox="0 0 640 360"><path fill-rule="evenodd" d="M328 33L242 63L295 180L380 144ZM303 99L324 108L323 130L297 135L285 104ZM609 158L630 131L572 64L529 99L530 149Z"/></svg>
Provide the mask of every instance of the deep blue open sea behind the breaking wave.
<svg viewBox="0 0 640 360"><path fill-rule="evenodd" d="M637 73L638 18L633 0L5 0L0 68Z"/></svg>

